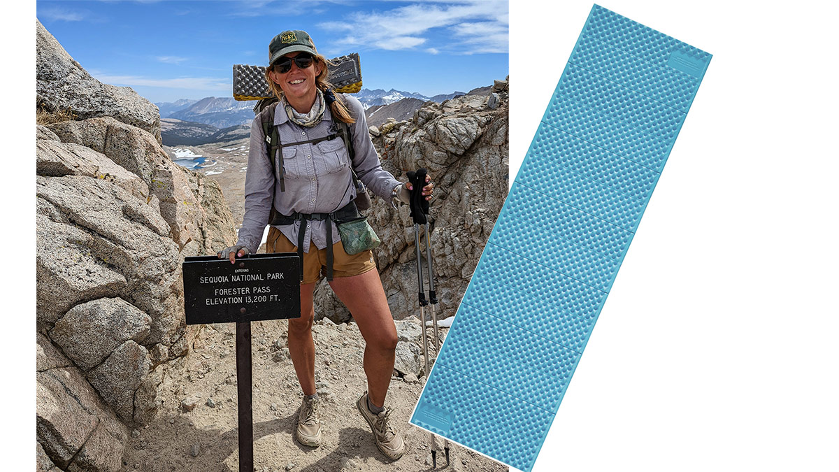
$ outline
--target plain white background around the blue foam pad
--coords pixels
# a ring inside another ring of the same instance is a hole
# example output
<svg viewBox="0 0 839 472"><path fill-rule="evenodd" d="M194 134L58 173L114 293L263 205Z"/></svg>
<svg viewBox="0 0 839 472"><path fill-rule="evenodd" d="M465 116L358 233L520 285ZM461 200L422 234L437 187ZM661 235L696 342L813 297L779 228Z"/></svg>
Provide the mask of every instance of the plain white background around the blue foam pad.
<svg viewBox="0 0 839 472"><path fill-rule="evenodd" d="M599 4L714 57L534 471L839 470L836 9ZM511 176L590 10L510 4Z"/></svg>

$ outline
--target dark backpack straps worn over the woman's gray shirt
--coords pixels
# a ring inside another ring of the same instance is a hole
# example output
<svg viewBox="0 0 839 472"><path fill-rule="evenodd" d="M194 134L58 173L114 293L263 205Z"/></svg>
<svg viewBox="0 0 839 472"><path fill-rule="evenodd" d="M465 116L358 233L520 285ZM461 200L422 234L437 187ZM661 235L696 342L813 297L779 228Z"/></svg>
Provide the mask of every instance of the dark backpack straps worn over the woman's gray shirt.
<svg viewBox="0 0 839 472"><path fill-rule="evenodd" d="M347 147L347 154L350 156L350 171L352 172L352 185L356 187L356 207L359 210L369 209L372 203L370 202L370 196L367 195L367 189L365 188L362 181L358 179L358 176L356 175L356 170L352 167L352 161L355 158L355 149L352 149L352 133L350 132L349 125L347 125L347 123L344 123L339 119L335 119L334 121L338 125L335 133L327 134L323 138L307 139L305 141L299 141L296 143L283 144L279 140L279 132L277 131L277 127L274 126L274 112L276 111L278 104L279 100L277 99L277 97L263 98L262 100L257 102L256 106L253 108L253 111L255 113L258 113L258 116L261 117L263 134L265 135L265 143L268 145L268 160L271 162L271 171L274 172L275 176L277 175L277 171L274 165L274 155L277 155L279 159L279 191L285 191L283 153L278 153L280 149L283 149L287 146L294 146L297 144L317 144L320 143L320 141L328 141L340 137L344 140L344 145ZM326 106L328 107L330 104L330 102L327 102ZM276 185L276 183L274 185ZM272 201L271 212L268 216L268 222L270 223L274 221L276 215L277 210L274 208L274 202Z"/></svg>

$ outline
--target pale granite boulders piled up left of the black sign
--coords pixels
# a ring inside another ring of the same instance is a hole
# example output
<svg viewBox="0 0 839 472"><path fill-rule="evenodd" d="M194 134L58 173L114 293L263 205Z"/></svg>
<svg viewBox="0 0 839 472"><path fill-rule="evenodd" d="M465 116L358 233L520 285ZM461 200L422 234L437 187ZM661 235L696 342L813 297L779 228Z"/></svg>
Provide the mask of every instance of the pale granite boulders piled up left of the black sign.
<svg viewBox="0 0 839 472"><path fill-rule="evenodd" d="M93 79L37 23L39 469L120 470L194 337L180 263L236 240L215 181L160 147L157 108Z"/></svg>

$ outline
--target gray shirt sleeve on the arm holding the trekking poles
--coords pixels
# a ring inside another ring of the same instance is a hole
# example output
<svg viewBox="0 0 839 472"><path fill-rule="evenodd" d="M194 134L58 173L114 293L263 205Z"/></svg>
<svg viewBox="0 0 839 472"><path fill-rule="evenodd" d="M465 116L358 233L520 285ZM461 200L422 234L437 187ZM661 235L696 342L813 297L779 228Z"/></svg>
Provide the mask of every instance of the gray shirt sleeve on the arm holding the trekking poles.
<svg viewBox="0 0 839 472"><path fill-rule="evenodd" d="M373 191L386 202L391 203L393 187L399 185L399 181L387 170L382 169L382 163L378 160L378 154L370 139L370 131L367 128L367 118L364 116L362 103L356 97L344 95L352 118L356 122L350 125L352 131L352 148L355 156L352 158L352 166L356 174L367 188ZM391 203L392 204L392 203Z"/></svg>

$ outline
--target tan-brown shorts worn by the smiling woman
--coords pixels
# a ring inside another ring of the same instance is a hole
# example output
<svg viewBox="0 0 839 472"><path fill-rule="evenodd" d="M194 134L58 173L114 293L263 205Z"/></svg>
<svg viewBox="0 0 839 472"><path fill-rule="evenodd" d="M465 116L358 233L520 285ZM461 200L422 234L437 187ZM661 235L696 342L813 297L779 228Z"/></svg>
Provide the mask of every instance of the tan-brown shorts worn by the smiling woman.
<svg viewBox="0 0 839 472"><path fill-rule="evenodd" d="M285 235L273 226L268 229L268 239L265 241L265 252L291 253L297 252L295 246ZM361 275L376 268L373 251L367 249L358 254L350 255L344 252L341 239L332 245L332 277L352 277ZM303 253L303 281L301 284L313 284L326 277L326 248L317 249L314 243L308 253Z"/></svg>

